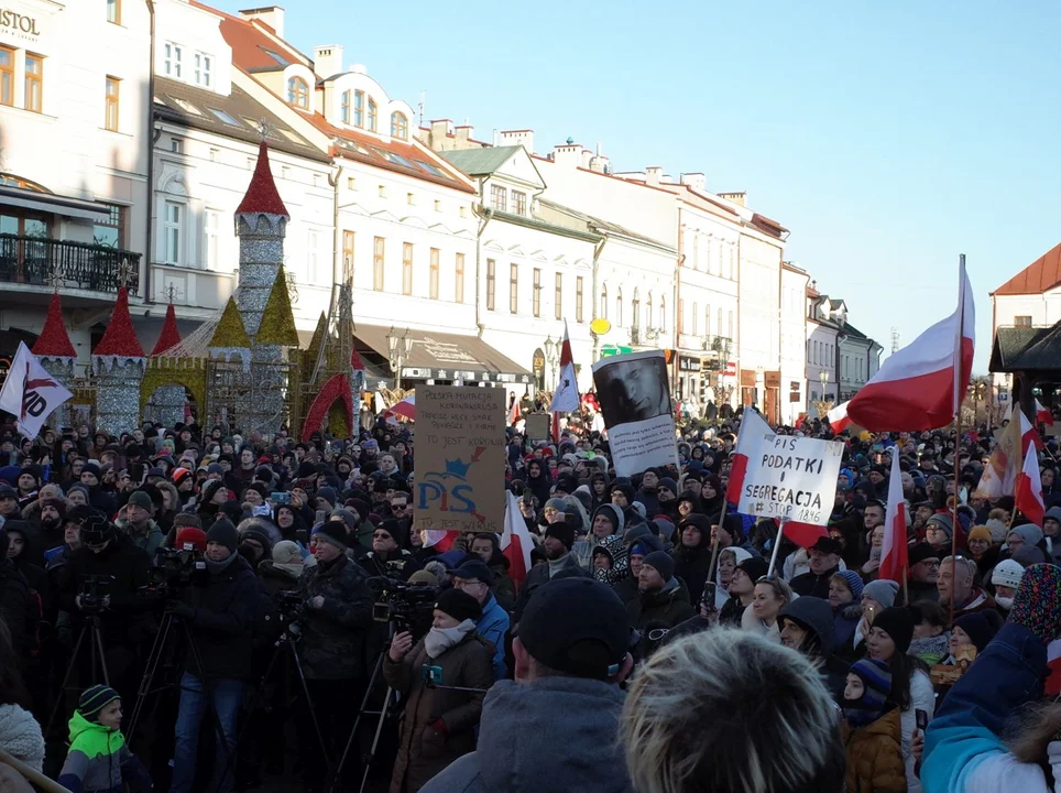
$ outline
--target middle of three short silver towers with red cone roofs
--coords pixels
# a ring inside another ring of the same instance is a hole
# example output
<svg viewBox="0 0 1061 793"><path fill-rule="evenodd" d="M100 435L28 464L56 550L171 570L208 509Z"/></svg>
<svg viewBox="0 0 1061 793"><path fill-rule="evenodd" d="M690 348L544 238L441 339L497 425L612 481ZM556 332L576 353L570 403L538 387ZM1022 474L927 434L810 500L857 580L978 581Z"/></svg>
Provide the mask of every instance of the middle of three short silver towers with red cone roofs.
<svg viewBox="0 0 1061 793"><path fill-rule="evenodd" d="M146 362L129 315L129 292L122 285L110 324L92 350L98 428L117 436L140 425L140 381Z"/></svg>

